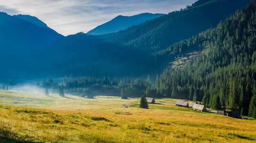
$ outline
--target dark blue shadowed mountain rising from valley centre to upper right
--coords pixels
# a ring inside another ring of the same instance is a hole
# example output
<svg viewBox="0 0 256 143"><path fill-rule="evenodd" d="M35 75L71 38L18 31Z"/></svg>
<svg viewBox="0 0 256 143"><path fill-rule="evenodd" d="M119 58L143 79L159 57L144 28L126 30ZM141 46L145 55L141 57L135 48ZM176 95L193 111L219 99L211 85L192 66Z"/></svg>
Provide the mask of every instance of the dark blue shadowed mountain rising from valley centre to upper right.
<svg viewBox="0 0 256 143"><path fill-rule="evenodd" d="M152 73L156 75L169 61L159 62L159 56L152 55L207 28L216 27L245 5L246 2L241 0L201 0L201 4L116 33L87 36L79 33L65 37L65 44L59 40L45 50L58 52L44 54L41 58L49 60L45 66L49 66L46 68L49 71L54 71L52 74L64 76L136 78ZM85 41L95 42L92 45Z"/></svg>

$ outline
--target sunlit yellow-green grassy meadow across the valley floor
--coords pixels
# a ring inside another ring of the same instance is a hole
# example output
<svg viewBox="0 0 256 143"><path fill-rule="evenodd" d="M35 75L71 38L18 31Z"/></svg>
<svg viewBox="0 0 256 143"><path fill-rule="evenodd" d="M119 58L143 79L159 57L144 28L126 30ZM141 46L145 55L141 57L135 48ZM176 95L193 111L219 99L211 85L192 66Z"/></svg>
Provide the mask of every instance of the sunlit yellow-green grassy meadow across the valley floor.
<svg viewBox="0 0 256 143"><path fill-rule="evenodd" d="M156 99L0 91L1 143L254 143L256 120L234 119ZM165 103L164 103L165 102ZM128 108L125 108L126 105Z"/></svg>

